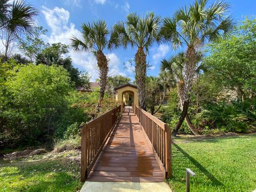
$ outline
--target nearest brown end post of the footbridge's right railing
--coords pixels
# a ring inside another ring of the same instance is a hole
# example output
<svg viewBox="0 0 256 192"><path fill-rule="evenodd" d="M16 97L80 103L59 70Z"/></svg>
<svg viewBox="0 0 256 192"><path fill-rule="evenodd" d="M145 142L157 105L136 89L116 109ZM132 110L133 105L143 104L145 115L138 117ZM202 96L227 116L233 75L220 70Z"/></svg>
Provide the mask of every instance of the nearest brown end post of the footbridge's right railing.
<svg viewBox="0 0 256 192"><path fill-rule="evenodd" d="M167 178L172 177L172 139L171 139L171 129L168 125L164 125L165 128L165 163Z"/></svg>

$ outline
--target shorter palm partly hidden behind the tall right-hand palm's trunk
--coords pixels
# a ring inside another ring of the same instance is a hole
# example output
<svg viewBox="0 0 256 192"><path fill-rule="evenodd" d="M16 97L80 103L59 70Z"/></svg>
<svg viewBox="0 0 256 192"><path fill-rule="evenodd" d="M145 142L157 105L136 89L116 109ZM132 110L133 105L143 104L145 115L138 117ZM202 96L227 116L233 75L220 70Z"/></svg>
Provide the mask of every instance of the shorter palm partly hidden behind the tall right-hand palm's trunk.
<svg viewBox="0 0 256 192"><path fill-rule="evenodd" d="M200 70L203 69L202 64L198 63L202 59L203 55L201 52L196 53L196 74L200 73ZM178 98L180 101L180 108L182 110L183 108L183 102L185 99L185 65L186 65L186 57L185 53L180 52L177 55L173 55L169 59L163 59L161 61L161 71L169 73L170 76L174 76L177 79L177 92L178 92ZM191 122L189 115L187 113L186 117L186 123L195 135L198 134L198 132L195 130L193 123Z"/></svg>

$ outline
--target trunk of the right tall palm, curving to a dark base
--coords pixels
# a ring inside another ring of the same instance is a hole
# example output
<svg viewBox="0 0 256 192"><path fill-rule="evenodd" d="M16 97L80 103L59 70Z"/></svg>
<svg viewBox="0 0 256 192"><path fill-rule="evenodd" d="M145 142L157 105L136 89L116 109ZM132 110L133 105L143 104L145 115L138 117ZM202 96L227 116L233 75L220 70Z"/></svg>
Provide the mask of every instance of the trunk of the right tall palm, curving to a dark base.
<svg viewBox="0 0 256 192"><path fill-rule="evenodd" d="M196 61L196 50L194 47L188 47L186 51L186 65L185 65L185 86L184 86L184 94L183 94L183 106L182 106L182 112L179 118L179 121L174 127L174 130L172 132L172 135L175 136L187 113L188 113L188 106L189 106L189 100L190 100L190 92L192 90L193 86L193 78L195 75L195 61Z"/></svg>

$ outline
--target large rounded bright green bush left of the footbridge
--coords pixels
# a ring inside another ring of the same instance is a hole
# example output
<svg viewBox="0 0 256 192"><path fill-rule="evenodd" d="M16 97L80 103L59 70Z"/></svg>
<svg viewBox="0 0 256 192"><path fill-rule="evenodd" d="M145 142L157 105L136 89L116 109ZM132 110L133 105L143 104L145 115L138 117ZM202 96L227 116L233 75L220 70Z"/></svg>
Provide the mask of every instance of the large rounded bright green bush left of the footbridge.
<svg viewBox="0 0 256 192"><path fill-rule="evenodd" d="M2 129L27 144L63 137L67 127L87 121L80 98L70 84L68 71L61 66L28 65L14 67L1 89ZM4 87L4 88L3 88Z"/></svg>

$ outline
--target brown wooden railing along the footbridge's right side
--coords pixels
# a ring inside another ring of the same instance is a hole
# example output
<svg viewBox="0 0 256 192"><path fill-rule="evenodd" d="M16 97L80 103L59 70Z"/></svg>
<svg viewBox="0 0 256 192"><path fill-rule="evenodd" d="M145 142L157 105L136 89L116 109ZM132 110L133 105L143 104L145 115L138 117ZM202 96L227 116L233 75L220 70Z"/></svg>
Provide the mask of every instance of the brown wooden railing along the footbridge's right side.
<svg viewBox="0 0 256 192"><path fill-rule="evenodd" d="M135 106L135 115L151 143L158 164L165 178L172 176L171 129L155 116Z"/></svg>

